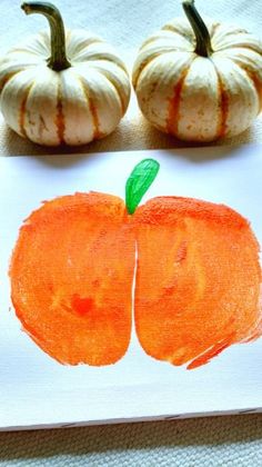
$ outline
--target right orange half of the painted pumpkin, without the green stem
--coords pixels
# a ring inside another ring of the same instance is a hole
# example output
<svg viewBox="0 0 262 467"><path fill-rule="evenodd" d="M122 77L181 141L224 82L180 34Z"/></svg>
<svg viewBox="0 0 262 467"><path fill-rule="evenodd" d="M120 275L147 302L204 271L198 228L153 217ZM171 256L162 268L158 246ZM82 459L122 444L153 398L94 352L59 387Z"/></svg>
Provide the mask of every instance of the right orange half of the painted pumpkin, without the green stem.
<svg viewBox="0 0 262 467"><path fill-rule="evenodd" d="M162 197L138 208L135 229L134 321L148 355L195 368L255 332L259 246L243 217Z"/></svg>

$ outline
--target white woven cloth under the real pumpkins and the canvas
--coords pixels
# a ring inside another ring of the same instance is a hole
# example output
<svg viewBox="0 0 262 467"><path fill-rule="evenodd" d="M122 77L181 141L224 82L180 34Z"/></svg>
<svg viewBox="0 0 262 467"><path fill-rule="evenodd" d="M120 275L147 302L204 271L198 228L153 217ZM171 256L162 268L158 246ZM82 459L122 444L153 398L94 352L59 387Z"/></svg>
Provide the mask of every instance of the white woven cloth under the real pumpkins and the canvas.
<svg viewBox="0 0 262 467"><path fill-rule="evenodd" d="M196 0L203 14L233 20L262 36L261 0ZM180 0L56 0L69 28L89 28L114 44L129 69L147 36L174 16ZM26 17L17 0L0 0L0 54L47 26ZM252 129L222 145L262 141L262 118ZM134 97L119 128L81 152L179 147L152 129ZM7 129L0 117L1 155L56 152L31 145ZM62 149L62 152L66 152ZM70 150L69 150L70 151ZM71 150L75 152L75 149ZM1 375L0 375L1 384ZM214 395L215 397L215 395ZM148 423L0 434L1 466L261 466L262 416Z"/></svg>

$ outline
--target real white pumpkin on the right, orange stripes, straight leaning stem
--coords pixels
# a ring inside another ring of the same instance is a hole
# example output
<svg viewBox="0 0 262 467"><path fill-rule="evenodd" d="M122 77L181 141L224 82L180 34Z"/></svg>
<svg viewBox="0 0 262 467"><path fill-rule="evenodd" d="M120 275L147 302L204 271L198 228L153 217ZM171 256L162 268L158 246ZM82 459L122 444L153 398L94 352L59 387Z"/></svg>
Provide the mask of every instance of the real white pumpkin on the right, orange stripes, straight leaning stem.
<svg viewBox="0 0 262 467"><path fill-rule="evenodd" d="M144 117L188 141L235 136L262 105L262 42L242 28L200 18L183 1L177 18L141 47L133 87Z"/></svg>

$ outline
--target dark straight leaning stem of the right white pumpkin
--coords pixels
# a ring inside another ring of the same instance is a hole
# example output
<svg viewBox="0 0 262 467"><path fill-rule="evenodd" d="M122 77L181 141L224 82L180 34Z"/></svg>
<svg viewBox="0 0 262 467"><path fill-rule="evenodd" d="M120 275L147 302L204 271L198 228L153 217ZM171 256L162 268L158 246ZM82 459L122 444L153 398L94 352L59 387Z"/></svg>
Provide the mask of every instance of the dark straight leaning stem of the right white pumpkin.
<svg viewBox="0 0 262 467"><path fill-rule="evenodd" d="M195 34L195 53L202 57L210 57L212 53L210 33L194 6L194 0L183 0L182 6Z"/></svg>

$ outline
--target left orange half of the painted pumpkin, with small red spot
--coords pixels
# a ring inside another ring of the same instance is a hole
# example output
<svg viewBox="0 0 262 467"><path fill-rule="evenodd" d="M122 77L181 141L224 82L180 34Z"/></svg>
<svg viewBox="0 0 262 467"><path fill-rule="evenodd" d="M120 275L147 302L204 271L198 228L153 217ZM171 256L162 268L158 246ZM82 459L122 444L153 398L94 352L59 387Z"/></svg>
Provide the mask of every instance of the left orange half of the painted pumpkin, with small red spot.
<svg viewBox="0 0 262 467"><path fill-rule="evenodd" d="M122 200L77 193L46 202L20 230L10 276L17 316L60 362L109 365L131 332L134 241Z"/></svg>

